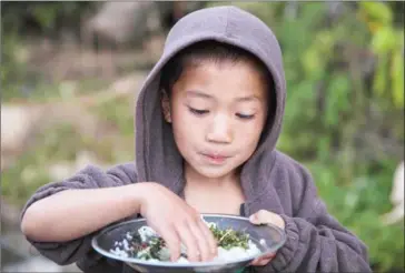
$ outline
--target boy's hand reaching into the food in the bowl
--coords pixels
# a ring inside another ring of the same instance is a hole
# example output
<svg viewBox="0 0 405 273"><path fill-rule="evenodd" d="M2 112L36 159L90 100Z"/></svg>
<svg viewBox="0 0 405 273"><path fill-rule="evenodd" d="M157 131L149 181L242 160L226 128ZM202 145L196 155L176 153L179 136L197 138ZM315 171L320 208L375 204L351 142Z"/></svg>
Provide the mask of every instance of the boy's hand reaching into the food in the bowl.
<svg viewBox="0 0 405 273"><path fill-rule="evenodd" d="M200 214L167 188L154 182L142 184L140 214L166 241L171 260L177 261L180 256L181 243L191 262L214 259L217 242Z"/></svg>

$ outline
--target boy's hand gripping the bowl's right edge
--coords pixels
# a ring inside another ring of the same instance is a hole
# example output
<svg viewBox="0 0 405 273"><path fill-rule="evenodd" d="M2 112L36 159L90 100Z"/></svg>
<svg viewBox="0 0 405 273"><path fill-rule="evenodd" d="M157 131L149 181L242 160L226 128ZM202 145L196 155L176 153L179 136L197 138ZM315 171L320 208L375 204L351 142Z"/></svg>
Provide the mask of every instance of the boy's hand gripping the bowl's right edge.
<svg viewBox="0 0 405 273"><path fill-rule="evenodd" d="M280 228L281 230L284 230L285 228L285 222L283 220L283 218L274 212L270 211L266 211L266 210L260 210L258 212L256 212L255 214L251 214L250 218L250 223L253 224L275 224L278 228ZM270 254L265 254L256 260L254 260L250 265L254 266L264 266L266 264L268 264L273 257L275 257L276 253L270 253Z"/></svg>

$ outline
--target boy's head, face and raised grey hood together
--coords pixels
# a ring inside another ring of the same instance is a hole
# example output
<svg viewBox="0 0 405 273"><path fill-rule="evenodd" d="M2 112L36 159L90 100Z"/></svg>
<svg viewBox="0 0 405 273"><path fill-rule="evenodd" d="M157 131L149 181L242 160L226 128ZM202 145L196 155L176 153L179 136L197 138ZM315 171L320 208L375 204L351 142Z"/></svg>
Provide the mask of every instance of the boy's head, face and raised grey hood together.
<svg viewBox="0 0 405 273"><path fill-rule="evenodd" d="M235 7L189 13L138 97L139 180L180 193L184 163L207 178L270 168L263 158L275 149L284 105L281 52L263 21ZM243 188L254 191L251 179Z"/></svg>

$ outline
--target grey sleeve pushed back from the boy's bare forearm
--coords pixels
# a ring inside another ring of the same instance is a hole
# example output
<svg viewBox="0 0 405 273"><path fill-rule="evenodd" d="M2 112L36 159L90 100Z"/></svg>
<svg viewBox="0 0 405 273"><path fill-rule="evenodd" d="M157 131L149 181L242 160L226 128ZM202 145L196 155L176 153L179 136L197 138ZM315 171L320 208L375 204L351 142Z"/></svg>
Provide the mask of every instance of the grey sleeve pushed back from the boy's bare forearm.
<svg viewBox="0 0 405 273"><path fill-rule="evenodd" d="M107 171L89 165L65 181L52 182L38 189L24 205L21 219L31 204L65 190L110 188L135 182L137 182L135 163L119 164ZM90 265L100 259L92 251L92 235L89 234L63 243L34 242L29 237L27 240L40 254L60 265L75 263L79 260L86 260L86 263Z"/></svg>

